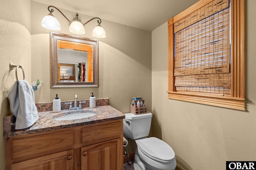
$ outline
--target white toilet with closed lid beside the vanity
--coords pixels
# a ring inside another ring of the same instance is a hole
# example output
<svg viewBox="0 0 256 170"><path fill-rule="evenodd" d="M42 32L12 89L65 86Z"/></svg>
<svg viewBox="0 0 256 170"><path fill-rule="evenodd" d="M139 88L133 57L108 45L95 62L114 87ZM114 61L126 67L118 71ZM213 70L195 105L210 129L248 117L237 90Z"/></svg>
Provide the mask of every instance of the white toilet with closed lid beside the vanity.
<svg viewBox="0 0 256 170"><path fill-rule="evenodd" d="M152 113L134 115L126 113L124 135L137 144L134 170L175 170L176 160L172 148L158 138L147 138Z"/></svg>

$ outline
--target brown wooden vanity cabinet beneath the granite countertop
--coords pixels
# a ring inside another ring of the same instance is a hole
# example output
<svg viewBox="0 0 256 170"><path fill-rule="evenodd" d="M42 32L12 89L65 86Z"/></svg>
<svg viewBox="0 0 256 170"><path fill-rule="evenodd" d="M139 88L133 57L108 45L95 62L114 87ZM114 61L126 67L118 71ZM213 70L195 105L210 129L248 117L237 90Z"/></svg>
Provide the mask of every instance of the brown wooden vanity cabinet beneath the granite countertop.
<svg viewBox="0 0 256 170"><path fill-rule="evenodd" d="M7 170L122 170L123 120L6 139Z"/></svg>

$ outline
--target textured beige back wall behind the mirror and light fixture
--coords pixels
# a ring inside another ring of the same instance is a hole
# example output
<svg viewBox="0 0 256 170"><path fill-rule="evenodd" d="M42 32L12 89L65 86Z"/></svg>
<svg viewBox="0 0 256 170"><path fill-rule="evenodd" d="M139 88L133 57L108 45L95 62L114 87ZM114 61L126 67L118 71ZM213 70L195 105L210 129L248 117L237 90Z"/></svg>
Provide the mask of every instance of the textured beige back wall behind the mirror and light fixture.
<svg viewBox="0 0 256 170"><path fill-rule="evenodd" d="M40 90L35 92L36 102L50 102L58 94L62 101L89 99L93 92L96 98L110 98L110 105L116 109L130 112L130 102L134 96L142 96L151 108L151 32L126 25L102 20L107 37L99 39L99 88L50 89L50 35L41 27L42 18L48 14L47 5L31 2L31 42L32 42L32 80L43 81ZM73 18L75 12L62 10ZM63 16L54 11L61 24L60 33L72 34ZM90 16L80 15L82 22ZM93 38L92 29L96 20L85 26L83 37Z"/></svg>

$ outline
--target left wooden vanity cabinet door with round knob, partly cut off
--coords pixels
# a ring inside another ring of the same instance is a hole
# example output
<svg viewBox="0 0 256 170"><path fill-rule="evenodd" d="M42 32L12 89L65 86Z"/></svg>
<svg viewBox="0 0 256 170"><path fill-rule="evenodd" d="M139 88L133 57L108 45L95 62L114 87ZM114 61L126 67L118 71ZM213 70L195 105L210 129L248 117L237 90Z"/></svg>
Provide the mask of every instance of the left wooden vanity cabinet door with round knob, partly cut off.
<svg viewBox="0 0 256 170"><path fill-rule="evenodd" d="M73 150L50 154L11 165L11 170L73 170Z"/></svg>

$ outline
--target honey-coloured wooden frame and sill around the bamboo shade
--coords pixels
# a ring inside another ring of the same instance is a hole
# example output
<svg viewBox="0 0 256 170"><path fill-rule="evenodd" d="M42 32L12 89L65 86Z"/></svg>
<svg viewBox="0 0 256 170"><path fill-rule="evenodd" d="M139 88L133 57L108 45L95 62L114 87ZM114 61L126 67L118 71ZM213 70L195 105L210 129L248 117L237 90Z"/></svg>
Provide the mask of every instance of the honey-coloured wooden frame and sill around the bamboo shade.
<svg viewBox="0 0 256 170"><path fill-rule="evenodd" d="M203 92L177 92L174 86L174 23L214 0L199 0L168 20L168 98L230 109L245 110L245 0L231 4L231 94L222 96Z"/></svg>

